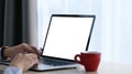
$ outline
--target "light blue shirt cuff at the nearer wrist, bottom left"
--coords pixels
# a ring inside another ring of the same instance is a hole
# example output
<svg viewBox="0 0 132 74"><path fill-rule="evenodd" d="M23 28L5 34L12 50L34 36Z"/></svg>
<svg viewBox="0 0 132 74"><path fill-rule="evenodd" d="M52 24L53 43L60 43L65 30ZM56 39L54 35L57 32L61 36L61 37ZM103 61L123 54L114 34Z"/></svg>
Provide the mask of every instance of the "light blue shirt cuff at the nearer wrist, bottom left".
<svg viewBox="0 0 132 74"><path fill-rule="evenodd" d="M3 74L22 74L22 70L16 66L9 66L6 68Z"/></svg>

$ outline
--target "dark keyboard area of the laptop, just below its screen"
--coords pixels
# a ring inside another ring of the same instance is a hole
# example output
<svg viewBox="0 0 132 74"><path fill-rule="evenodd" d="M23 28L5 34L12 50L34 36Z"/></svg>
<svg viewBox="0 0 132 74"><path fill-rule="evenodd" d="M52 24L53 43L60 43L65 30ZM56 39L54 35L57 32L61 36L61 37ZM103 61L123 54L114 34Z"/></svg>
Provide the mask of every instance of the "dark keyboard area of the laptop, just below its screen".
<svg viewBox="0 0 132 74"><path fill-rule="evenodd" d="M42 57L41 63L44 63L46 65L58 66L58 65L73 64L74 62L67 62L67 61L61 61L61 60L55 60L55 59Z"/></svg>

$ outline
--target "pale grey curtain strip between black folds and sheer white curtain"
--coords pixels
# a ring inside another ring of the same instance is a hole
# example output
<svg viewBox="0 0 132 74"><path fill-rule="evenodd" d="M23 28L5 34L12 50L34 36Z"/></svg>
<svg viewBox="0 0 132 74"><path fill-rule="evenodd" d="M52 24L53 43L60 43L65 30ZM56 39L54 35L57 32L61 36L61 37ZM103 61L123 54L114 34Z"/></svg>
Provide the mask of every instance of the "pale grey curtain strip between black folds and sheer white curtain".
<svg viewBox="0 0 132 74"><path fill-rule="evenodd" d="M22 42L37 47L37 0L22 0Z"/></svg>

